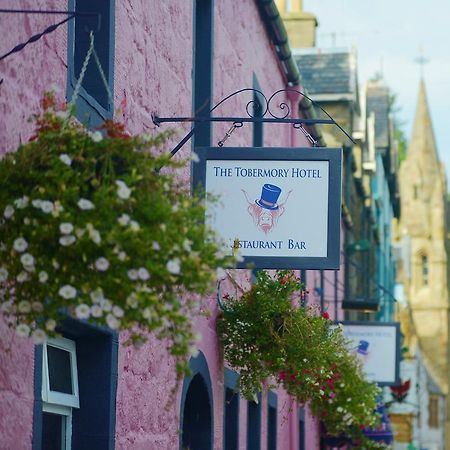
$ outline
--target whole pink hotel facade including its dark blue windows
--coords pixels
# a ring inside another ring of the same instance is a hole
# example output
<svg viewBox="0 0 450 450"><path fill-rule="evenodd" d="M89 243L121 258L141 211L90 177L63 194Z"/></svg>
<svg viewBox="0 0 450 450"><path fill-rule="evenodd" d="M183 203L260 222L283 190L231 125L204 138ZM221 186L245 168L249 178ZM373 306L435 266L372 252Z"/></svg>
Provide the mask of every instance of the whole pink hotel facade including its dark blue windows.
<svg viewBox="0 0 450 450"><path fill-rule="evenodd" d="M89 30L94 31L102 70L89 62L76 98L77 117L87 127L114 117L131 134L157 133L153 115L208 114L239 89L258 88L268 95L286 87L302 90L273 2L69 0L64 5L69 11L99 13L101 22L80 14L0 62L0 156L29 139L27 118L39 109L46 90L59 91L62 101L71 100L84 70ZM63 8L52 0L21 0L9 6ZM3 46L13 48L24 36L48 28L53 18L11 14L3 28ZM296 114L309 117L298 95L279 97ZM237 95L216 112L242 115L254 100L253 93ZM197 146L215 146L229 127L196 126L193 139L176 157L189 158ZM179 125L168 150L190 132L189 125ZM318 138L315 129L309 132ZM288 125L246 125L227 145L308 147L310 142ZM189 183L190 178L189 169L180 173L180 181ZM238 284L249 285L249 271L236 270L232 276ZM335 297L338 275L331 276L334 284L326 289L322 279L318 301L320 296L322 301L324 295L330 297L330 307L340 318ZM308 283L316 279L321 279L320 273L311 275ZM127 333L117 335L68 320L61 325L63 339L34 346L0 320L0 447L318 449L318 422L284 391L265 390L258 403L233 396L237 376L221 357L216 296L203 299L203 308L207 317L193 319L202 336L199 354L191 359L192 375L179 384L174 362L161 342L151 337L136 349L123 345ZM48 397L55 361L65 368L61 382L72 386L69 398L57 407Z"/></svg>

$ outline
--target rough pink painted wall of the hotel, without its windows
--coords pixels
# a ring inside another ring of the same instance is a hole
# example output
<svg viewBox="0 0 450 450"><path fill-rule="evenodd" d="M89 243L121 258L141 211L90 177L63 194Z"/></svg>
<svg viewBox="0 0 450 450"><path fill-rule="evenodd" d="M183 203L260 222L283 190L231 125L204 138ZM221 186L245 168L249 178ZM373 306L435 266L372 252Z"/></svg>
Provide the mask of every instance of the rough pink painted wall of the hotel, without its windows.
<svg viewBox="0 0 450 450"><path fill-rule="evenodd" d="M56 0L9 0L3 6L23 9L65 7L63 2ZM121 109L116 117L122 116L131 133L158 132L151 120L154 113L161 116L192 114L192 15L192 2L189 1L116 0L114 95L115 107ZM8 20L2 22L2 50L8 51L56 21L52 16L8 16ZM31 129L26 119L38 109L45 90L56 85L64 95L66 52L67 27L63 26L0 63L0 78L4 80L0 88L0 156L28 139ZM286 87L255 2L216 1L213 103L240 88L252 87L253 73L268 95ZM280 101L289 103L286 96L279 97ZM251 97L248 96L230 99L217 114L245 115L249 100ZM228 124L214 126L213 145L228 127ZM177 125L176 128L179 140L189 125ZM177 138L169 143L169 147L176 144ZM247 124L236 131L226 145L246 146L251 145L251 141L252 126ZM308 142L289 125L265 125L264 145L308 146ZM190 145L186 145L178 157L188 157L190 150ZM186 181L190 178L188 170L180 176ZM248 273L233 271L233 274L244 286L248 284ZM341 271L339 278L343 283L342 275ZM326 276L334 277L332 274ZM311 292L313 279L309 272ZM333 295L331 289L326 283L326 297ZM215 296L205 299L203 305L211 315L197 318L195 324L202 335L199 350L207 359L212 382L214 449L220 449L223 442L224 367L215 333L218 312ZM124 338L122 335L121 341ZM0 448L31 448L34 347L30 341L16 337L0 320L0 349ZM150 339L139 350L121 345L118 368L116 448L178 448L181 391L178 389L174 402L167 405L170 391L175 386L175 370L161 343ZM290 398L282 390L277 394L278 448L298 448L297 408L290 412ZM239 446L242 450L246 448L246 413L247 402L241 399ZM261 424L261 450L266 450L266 393L262 396ZM306 414L305 425L306 448L318 449L318 425L310 414Z"/></svg>

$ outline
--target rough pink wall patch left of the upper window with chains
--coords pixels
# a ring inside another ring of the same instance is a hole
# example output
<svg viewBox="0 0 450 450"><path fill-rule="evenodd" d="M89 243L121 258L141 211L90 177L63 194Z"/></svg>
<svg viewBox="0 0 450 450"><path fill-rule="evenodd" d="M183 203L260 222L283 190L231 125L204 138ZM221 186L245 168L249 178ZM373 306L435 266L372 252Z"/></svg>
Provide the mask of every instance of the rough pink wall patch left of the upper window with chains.
<svg viewBox="0 0 450 450"><path fill-rule="evenodd" d="M2 8L64 10L66 1L6 0ZM1 14L0 54L10 51L34 34L61 21L65 16L40 14ZM53 85L66 90L67 26L27 45L0 62L0 157L26 142L32 127L27 122L39 108L45 91Z"/></svg>

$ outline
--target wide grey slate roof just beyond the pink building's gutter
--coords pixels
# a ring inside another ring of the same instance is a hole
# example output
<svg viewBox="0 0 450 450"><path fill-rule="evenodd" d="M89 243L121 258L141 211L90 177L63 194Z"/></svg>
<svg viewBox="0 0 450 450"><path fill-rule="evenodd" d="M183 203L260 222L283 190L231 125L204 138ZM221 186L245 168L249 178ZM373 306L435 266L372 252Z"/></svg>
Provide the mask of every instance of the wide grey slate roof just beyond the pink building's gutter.
<svg viewBox="0 0 450 450"><path fill-rule="evenodd" d="M356 64L351 52L315 52L294 57L302 85L311 95L356 95Z"/></svg>

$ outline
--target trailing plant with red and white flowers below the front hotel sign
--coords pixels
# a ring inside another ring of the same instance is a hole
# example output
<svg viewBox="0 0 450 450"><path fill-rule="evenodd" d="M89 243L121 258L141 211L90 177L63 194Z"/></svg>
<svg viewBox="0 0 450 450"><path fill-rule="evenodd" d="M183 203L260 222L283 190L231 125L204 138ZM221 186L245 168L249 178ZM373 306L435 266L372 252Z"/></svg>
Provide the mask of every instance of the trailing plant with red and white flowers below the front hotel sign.
<svg viewBox="0 0 450 450"><path fill-rule="evenodd" d="M260 271L240 298L225 296L217 323L224 357L239 371L245 398L254 399L265 381L282 386L298 402L309 402L329 435L363 443L362 430L379 421L379 388L365 379L342 328L328 313L303 306L303 289L292 271L279 270L273 277ZM375 443L364 445L360 448Z"/></svg>

